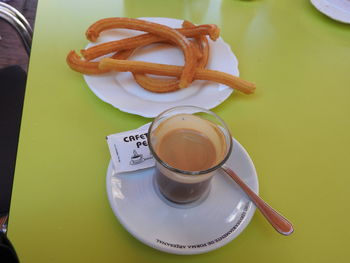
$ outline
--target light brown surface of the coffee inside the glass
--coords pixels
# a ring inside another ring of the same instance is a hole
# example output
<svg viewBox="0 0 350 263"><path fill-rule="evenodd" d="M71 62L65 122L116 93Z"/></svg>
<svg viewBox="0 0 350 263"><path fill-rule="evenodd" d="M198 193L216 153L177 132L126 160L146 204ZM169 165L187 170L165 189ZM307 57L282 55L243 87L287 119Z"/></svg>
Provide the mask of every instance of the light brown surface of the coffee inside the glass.
<svg viewBox="0 0 350 263"><path fill-rule="evenodd" d="M174 129L156 147L158 156L170 166L185 171L203 171L215 165L217 156L212 141L195 129Z"/></svg>

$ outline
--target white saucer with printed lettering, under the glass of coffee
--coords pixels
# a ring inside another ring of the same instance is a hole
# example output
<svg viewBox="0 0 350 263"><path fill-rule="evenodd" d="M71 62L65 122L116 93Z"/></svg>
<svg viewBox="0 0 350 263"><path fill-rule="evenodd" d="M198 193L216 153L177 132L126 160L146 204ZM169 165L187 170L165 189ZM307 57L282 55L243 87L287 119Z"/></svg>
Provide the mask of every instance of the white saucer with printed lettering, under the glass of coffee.
<svg viewBox="0 0 350 263"><path fill-rule="evenodd" d="M258 193L254 164L233 139L227 161L243 181ZM195 204L175 205L159 194L154 169L117 174L107 171L107 194L120 223L141 242L173 254L200 254L236 238L249 224L255 206L223 172L214 175L208 196Z"/></svg>

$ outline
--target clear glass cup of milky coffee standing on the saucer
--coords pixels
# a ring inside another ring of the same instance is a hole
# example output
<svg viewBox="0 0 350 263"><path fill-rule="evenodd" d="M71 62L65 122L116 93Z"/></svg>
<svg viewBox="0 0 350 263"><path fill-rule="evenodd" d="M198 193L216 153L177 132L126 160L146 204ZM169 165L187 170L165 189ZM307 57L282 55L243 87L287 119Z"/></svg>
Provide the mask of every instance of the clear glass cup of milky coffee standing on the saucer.
<svg viewBox="0 0 350 263"><path fill-rule="evenodd" d="M187 204L205 197L214 172L232 151L232 137L215 113L179 106L158 115L148 131L156 160L155 182L168 200Z"/></svg>

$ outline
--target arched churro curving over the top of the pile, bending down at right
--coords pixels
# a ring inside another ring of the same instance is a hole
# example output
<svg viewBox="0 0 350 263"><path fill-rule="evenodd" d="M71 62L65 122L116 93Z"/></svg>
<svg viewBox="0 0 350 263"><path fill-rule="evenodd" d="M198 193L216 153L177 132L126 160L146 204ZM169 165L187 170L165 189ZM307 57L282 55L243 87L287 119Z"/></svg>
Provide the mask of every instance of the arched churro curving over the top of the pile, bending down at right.
<svg viewBox="0 0 350 263"><path fill-rule="evenodd" d="M184 35L173 28L161 24L134 18L116 17L97 21L88 28L86 37L94 42L102 31L113 28L141 30L176 43L182 49L185 58L185 65L181 72L179 87L186 88L192 82L194 69L196 67L196 57L193 54L190 41Z"/></svg>

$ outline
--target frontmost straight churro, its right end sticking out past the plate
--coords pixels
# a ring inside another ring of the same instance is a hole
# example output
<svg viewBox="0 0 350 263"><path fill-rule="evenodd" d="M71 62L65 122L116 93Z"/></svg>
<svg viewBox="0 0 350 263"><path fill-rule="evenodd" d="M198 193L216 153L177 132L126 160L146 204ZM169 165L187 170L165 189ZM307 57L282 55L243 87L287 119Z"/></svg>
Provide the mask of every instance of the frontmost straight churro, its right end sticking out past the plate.
<svg viewBox="0 0 350 263"><path fill-rule="evenodd" d="M173 66L142 61L117 60L112 58L103 58L99 62L99 68L102 70L115 70L120 72L133 72L172 77L179 77L183 70L182 66ZM197 68L195 70L194 79L209 80L222 83L245 94L254 93L256 89L254 83L216 70Z"/></svg>

